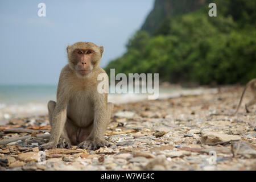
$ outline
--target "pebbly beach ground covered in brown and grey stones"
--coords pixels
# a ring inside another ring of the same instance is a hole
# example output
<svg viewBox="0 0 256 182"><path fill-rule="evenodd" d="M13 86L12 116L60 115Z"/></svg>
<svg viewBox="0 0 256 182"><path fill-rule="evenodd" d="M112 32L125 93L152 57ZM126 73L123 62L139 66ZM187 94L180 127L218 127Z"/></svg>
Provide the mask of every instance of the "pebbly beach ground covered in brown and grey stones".
<svg viewBox="0 0 256 182"><path fill-rule="evenodd" d="M242 87L180 94L114 106L105 139L112 146L96 151L38 151L50 131L47 116L11 119L0 126L2 170L256 170L256 106L246 113ZM17 129L18 128L18 129ZM31 135L33 138L31 138ZM36 138L37 137L37 138Z"/></svg>

